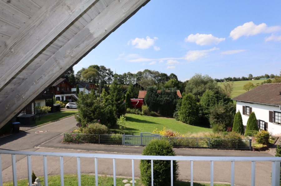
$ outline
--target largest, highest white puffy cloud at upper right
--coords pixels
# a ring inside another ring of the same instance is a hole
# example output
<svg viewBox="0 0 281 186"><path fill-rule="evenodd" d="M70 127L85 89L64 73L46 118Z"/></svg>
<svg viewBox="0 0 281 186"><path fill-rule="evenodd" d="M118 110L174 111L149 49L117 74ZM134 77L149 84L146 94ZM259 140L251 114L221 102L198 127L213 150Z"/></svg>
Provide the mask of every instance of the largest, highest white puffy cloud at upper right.
<svg viewBox="0 0 281 186"><path fill-rule="evenodd" d="M242 26L234 28L229 34L233 40L238 39L242 36L254 36L260 33L272 33L281 30L279 26L268 27L265 23L255 25L254 22L246 22Z"/></svg>

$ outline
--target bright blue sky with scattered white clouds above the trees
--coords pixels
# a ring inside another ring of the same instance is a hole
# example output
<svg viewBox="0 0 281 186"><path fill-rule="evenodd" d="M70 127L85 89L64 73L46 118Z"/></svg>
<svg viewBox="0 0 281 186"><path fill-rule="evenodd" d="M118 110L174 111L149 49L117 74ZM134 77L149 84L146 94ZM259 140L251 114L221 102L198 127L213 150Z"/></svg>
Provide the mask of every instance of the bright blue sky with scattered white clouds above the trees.
<svg viewBox="0 0 281 186"><path fill-rule="evenodd" d="M151 0L73 69L104 65L212 78L281 70L281 1Z"/></svg>

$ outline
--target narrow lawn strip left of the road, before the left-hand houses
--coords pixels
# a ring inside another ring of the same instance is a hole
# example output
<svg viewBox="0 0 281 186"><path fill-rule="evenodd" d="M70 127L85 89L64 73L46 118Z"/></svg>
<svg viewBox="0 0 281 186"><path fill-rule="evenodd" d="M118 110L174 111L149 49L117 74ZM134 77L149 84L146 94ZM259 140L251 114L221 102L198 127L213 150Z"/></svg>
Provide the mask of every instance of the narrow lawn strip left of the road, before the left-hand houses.
<svg viewBox="0 0 281 186"><path fill-rule="evenodd" d="M56 121L71 115L74 115L75 113L77 113L78 111L75 109L67 109L67 110L62 110L61 112L55 112L55 113L51 113L48 115L44 115L43 117L40 118L40 120L38 118L36 118L36 124L34 124L34 126L38 126L38 125L42 125L45 123L50 123L52 121Z"/></svg>

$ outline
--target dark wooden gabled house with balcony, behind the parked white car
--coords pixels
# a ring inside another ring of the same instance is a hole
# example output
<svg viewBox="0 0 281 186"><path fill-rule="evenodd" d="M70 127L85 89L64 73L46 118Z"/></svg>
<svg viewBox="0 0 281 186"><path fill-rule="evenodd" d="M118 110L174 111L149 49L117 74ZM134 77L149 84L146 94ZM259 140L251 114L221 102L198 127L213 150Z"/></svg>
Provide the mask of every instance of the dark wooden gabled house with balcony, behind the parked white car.
<svg viewBox="0 0 281 186"><path fill-rule="evenodd" d="M71 90L72 87L65 78L60 78L52 86L47 88L46 93L52 93L58 101L77 100L78 97L76 92Z"/></svg>

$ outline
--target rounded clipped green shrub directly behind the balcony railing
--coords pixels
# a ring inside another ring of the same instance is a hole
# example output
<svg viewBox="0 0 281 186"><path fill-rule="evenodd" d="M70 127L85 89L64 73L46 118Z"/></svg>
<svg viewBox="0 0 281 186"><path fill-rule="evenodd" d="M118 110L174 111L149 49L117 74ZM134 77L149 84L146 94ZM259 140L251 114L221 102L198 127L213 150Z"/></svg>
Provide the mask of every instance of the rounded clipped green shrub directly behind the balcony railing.
<svg viewBox="0 0 281 186"><path fill-rule="evenodd" d="M175 156L172 146L166 140L152 140L145 147L142 155L155 156ZM151 185L151 160L142 159L140 163L141 181L145 186ZM176 161L173 161L173 182L179 176L179 167ZM153 161L153 182L154 185L171 185L171 162L167 160Z"/></svg>

